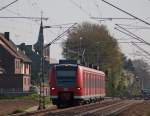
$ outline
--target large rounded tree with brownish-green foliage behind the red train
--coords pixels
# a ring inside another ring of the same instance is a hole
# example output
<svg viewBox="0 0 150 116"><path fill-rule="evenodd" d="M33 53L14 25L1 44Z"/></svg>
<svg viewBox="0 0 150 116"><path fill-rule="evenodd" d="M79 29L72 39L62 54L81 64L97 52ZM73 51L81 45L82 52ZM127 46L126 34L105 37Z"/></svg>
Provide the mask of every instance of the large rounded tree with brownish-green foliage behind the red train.
<svg viewBox="0 0 150 116"><path fill-rule="evenodd" d="M122 53L114 37L104 25L84 22L68 32L63 43L63 56L71 59L82 59L85 64L94 64L100 70L109 70L113 88L116 89L122 70ZM110 85L108 84L108 85Z"/></svg>

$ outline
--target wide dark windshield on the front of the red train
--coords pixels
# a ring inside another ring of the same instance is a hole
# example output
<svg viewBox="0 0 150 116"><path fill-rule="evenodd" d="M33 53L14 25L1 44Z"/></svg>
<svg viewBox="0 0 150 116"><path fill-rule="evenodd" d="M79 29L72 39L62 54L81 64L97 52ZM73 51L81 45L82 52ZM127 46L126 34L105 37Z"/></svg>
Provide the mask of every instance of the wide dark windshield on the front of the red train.
<svg viewBox="0 0 150 116"><path fill-rule="evenodd" d="M57 67L56 78L57 86L70 87L75 86L76 81L76 69L75 67Z"/></svg>

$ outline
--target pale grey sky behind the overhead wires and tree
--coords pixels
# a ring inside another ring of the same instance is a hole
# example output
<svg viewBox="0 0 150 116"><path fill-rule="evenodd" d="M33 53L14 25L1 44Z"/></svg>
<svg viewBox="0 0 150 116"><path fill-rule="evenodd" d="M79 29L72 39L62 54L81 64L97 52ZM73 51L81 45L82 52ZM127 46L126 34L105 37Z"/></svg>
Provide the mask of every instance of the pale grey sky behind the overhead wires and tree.
<svg viewBox="0 0 150 116"><path fill-rule="evenodd" d="M0 0L0 9L15 0ZM150 0L106 0L113 5L139 17L150 23ZM115 30L115 24L143 26L146 29L131 29L129 26L125 27L132 33L150 42L150 25L146 25L138 20L105 20L99 21L91 19L91 17L110 17L110 18L132 18L131 16L109 6L101 0L18 0L11 6L0 10L0 17L40 17L41 12L43 17L48 17L47 21L43 21L45 26L53 26L59 24L82 23L88 21L91 23L98 23L107 26L110 34L117 38L121 51L128 56L128 58L142 58L149 61L149 57L141 52L137 47L131 43L138 42L137 40ZM16 44L26 43L34 44L37 41L39 33L39 20L29 19L6 19L0 18L0 32L10 32L10 38ZM70 26L70 25L68 25ZM65 31L66 28L49 28L44 29L45 43L51 42L59 34ZM66 39L64 36L56 44L51 45L51 58L62 58L61 42ZM143 49L150 51L150 46L143 43L136 43Z"/></svg>

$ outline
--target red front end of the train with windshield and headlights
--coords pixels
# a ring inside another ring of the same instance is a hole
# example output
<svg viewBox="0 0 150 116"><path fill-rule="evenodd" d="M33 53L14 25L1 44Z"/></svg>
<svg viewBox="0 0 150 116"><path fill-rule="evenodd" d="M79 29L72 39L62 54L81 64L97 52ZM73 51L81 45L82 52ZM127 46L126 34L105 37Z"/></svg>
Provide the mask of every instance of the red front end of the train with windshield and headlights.
<svg viewBox="0 0 150 116"><path fill-rule="evenodd" d="M77 65L55 65L50 75L50 95L53 104L58 107L74 104L77 91Z"/></svg>

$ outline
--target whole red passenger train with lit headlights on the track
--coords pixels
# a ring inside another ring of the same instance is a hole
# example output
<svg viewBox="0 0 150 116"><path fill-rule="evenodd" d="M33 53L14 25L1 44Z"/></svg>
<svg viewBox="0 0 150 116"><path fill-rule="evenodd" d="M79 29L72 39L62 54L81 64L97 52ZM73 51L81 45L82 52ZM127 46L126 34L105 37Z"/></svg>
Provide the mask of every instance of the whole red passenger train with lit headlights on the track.
<svg viewBox="0 0 150 116"><path fill-rule="evenodd" d="M54 65L49 84L52 102L58 107L102 100L105 96L104 72L77 64Z"/></svg>

